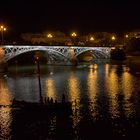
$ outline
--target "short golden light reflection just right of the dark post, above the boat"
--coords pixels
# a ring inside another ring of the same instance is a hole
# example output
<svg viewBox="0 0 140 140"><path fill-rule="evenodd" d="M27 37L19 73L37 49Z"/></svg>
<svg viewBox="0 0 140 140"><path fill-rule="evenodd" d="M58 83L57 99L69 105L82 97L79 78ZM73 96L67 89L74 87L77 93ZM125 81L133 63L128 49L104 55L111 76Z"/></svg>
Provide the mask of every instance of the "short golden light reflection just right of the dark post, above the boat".
<svg viewBox="0 0 140 140"><path fill-rule="evenodd" d="M54 80L51 78L46 80L46 91L47 91L46 94L47 97L56 99Z"/></svg>

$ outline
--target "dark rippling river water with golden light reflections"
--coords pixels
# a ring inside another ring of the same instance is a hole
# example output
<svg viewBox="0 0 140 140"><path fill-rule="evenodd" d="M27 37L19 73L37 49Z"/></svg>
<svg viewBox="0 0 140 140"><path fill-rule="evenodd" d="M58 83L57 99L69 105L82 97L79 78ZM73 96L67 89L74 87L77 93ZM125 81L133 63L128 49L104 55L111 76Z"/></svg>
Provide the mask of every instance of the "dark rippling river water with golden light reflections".
<svg viewBox="0 0 140 140"><path fill-rule="evenodd" d="M42 66L42 96L65 94L72 113L58 115L0 106L0 140L139 139L140 75L125 65ZM0 76L0 105L39 102L35 67L14 67Z"/></svg>

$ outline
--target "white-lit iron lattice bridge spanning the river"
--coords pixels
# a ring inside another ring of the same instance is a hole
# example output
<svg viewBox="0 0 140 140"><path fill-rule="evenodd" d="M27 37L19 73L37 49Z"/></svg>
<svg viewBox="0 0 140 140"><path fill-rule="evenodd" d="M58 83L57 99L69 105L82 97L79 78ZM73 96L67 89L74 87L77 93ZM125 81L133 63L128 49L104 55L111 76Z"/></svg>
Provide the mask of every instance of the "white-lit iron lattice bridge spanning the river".
<svg viewBox="0 0 140 140"><path fill-rule="evenodd" d="M30 51L46 51L50 60L63 59L65 61L72 57L78 57L80 54L90 51L94 58L109 58L109 47L78 47L78 46L18 46L5 45L4 58L6 61Z"/></svg>

